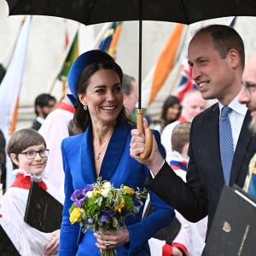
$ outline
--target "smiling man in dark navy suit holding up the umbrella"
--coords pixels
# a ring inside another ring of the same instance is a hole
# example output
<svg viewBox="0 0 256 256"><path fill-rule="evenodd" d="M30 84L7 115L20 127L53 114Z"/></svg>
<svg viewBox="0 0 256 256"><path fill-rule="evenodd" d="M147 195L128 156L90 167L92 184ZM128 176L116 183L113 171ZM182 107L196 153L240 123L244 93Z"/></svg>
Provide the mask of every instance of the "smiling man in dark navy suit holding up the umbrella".
<svg viewBox="0 0 256 256"><path fill-rule="evenodd" d="M192 76L205 99L218 102L198 114L192 122L189 143L187 183L172 172L160 156L155 142L147 160L139 158L144 150L143 135L131 131L131 157L146 164L154 178L148 189L154 191L191 222L208 214L208 229L224 186L224 172L219 146L220 110L229 106L234 157L227 184L242 186L247 166L256 149L256 139L248 131L250 111L238 102L244 68L244 45L230 26L212 25L201 28L189 43L189 65Z"/></svg>

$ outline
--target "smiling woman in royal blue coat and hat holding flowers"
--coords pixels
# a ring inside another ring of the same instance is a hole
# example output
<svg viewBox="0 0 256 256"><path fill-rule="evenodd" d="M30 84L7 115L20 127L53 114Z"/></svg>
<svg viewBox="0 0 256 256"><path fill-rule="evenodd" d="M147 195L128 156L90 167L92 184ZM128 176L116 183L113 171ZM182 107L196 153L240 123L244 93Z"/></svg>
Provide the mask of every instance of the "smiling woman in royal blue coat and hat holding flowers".
<svg viewBox="0 0 256 256"><path fill-rule="evenodd" d="M104 235L71 224L68 209L76 189L95 183L97 177L143 189L148 168L130 156L131 129L134 124L125 114L121 92L123 73L111 56L90 50L80 55L68 74L70 99L76 111L74 122L82 131L61 144L65 172L65 203L61 224L59 255L100 255L100 248L116 247L117 255L150 255L148 239L172 222L174 212L150 192L154 212L143 218L143 207L126 218L126 228ZM160 146L160 136L154 132ZM160 148L162 148L160 146ZM162 148L164 154L164 149ZM135 172L136 171L136 172Z"/></svg>

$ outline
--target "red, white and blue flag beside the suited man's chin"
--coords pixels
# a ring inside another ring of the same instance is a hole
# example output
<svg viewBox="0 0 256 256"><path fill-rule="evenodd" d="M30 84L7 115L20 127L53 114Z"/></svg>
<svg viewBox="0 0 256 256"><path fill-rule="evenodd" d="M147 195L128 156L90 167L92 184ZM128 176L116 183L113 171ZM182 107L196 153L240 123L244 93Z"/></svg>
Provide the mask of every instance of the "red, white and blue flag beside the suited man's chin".
<svg viewBox="0 0 256 256"><path fill-rule="evenodd" d="M177 85L177 97L182 102L184 94L191 89L196 89L192 79L192 69L189 66L188 58L185 58L181 64L181 79Z"/></svg>

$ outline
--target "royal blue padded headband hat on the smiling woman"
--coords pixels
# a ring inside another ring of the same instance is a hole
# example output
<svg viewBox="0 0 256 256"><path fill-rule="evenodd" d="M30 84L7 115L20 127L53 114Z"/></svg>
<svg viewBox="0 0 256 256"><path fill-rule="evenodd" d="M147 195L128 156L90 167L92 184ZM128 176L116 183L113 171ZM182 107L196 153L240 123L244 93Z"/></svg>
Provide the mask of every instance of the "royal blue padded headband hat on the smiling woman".
<svg viewBox="0 0 256 256"><path fill-rule="evenodd" d="M73 104L73 106L75 105L78 99L77 85L79 82L79 77L83 72L84 68L92 63L99 63L102 61L113 61L113 58L102 50L92 49L84 52L82 55L79 55L79 57L73 62L73 65L70 67L67 76L68 87L72 93L67 94L67 97Z"/></svg>

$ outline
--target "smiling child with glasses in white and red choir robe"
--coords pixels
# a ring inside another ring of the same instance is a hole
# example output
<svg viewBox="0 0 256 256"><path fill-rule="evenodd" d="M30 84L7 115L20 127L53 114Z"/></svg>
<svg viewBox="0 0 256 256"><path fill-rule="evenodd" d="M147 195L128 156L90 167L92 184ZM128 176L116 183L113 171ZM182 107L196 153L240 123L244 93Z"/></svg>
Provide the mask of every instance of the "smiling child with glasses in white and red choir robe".
<svg viewBox="0 0 256 256"><path fill-rule="evenodd" d="M32 129L16 131L9 139L6 151L12 161L16 178L1 199L0 213L25 235L31 255L55 255L59 247L59 230L44 233L32 228L24 221L26 202L32 181L37 182L39 186L62 202L58 191L44 182L44 168L49 154L44 137ZM8 225L5 228L8 229ZM10 232L10 230L5 231ZM19 241L15 247L19 249L23 243L24 241ZM29 256L28 252L24 255Z"/></svg>

